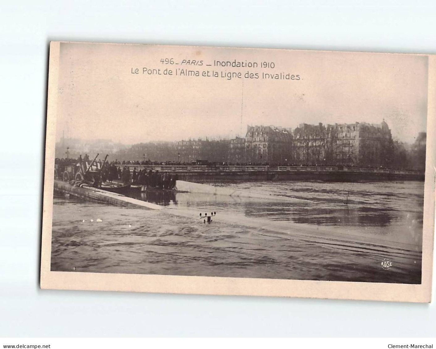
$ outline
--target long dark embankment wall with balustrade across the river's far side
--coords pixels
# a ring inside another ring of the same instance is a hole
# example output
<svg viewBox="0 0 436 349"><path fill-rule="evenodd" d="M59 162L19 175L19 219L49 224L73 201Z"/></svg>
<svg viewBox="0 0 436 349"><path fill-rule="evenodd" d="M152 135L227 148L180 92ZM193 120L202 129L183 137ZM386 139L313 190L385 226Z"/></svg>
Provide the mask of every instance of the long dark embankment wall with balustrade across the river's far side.
<svg viewBox="0 0 436 349"><path fill-rule="evenodd" d="M131 172L160 171L175 173L184 181L424 181L423 171L357 168L341 166L269 166L269 165L140 165L116 164Z"/></svg>

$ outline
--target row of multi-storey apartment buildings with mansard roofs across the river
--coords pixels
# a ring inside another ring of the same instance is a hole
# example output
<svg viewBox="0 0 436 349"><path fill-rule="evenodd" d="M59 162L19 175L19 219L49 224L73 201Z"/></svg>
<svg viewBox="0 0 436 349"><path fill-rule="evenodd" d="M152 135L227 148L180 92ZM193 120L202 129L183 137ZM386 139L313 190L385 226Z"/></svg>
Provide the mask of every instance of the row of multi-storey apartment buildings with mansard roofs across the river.
<svg viewBox="0 0 436 349"><path fill-rule="evenodd" d="M392 135L388 124L300 124L294 130L248 126L245 138L188 140L175 144L181 162L304 164L388 167Z"/></svg>

